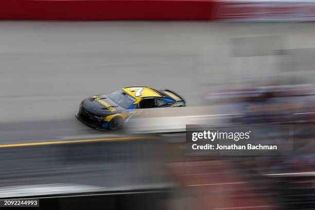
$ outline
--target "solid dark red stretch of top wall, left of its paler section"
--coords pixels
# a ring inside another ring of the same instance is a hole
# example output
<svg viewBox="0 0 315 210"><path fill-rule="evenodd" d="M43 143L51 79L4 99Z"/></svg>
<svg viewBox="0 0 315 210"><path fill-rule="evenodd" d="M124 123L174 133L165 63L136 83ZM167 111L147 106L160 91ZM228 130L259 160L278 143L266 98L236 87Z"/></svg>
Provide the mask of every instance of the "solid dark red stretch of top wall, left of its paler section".
<svg viewBox="0 0 315 210"><path fill-rule="evenodd" d="M212 20L211 0L1 0L2 20Z"/></svg>

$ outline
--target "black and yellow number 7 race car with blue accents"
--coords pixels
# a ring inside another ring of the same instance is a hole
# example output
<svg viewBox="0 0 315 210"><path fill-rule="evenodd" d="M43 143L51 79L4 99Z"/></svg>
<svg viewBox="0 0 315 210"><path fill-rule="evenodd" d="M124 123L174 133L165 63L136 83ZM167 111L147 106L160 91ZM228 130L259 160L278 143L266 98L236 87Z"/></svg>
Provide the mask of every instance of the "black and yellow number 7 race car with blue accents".
<svg viewBox="0 0 315 210"><path fill-rule="evenodd" d="M137 109L185 107L185 101L170 90L132 86L85 98L76 116L97 130L117 130L136 114Z"/></svg>

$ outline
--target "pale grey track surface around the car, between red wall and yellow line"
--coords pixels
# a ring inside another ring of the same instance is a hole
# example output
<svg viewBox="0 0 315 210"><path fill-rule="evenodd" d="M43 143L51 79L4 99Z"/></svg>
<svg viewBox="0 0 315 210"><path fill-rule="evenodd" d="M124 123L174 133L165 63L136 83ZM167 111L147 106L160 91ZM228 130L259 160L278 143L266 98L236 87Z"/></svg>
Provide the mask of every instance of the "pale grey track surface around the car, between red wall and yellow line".
<svg viewBox="0 0 315 210"><path fill-rule="evenodd" d="M311 47L312 29L299 23L0 22L0 145L100 134L75 119L78 104L125 86L167 88L198 106L199 94L213 90L204 80L220 83L217 76L226 75L234 82L222 69L253 69L236 65L243 58L228 59L231 40L283 36L288 46L282 48Z"/></svg>

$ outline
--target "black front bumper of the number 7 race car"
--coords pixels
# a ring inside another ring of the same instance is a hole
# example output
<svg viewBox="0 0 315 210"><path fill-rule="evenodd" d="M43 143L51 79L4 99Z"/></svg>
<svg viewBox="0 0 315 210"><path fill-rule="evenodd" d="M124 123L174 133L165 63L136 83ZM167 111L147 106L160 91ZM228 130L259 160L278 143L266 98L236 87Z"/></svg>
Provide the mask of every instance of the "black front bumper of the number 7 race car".
<svg viewBox="0 0 315 210"><path fill-rule="evenodd" d="M87 126L90 126L97 130L108 130L109 122L93 116L92 114L84 110L84 108L81 106L79 108L79 111L76 113L76 116Z"/></svg>

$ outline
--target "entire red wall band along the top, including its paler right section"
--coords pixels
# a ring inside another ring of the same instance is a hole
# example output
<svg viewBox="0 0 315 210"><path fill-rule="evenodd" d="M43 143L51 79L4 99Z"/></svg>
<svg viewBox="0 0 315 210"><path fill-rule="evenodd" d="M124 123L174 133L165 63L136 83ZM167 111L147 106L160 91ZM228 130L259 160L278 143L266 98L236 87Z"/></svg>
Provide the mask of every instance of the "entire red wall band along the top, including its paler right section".
<svg viewBox="0 0 315 210"><path fill-rule="evenodd" d="M315 21L308 0L0 0L0 20Z"/></svg>

